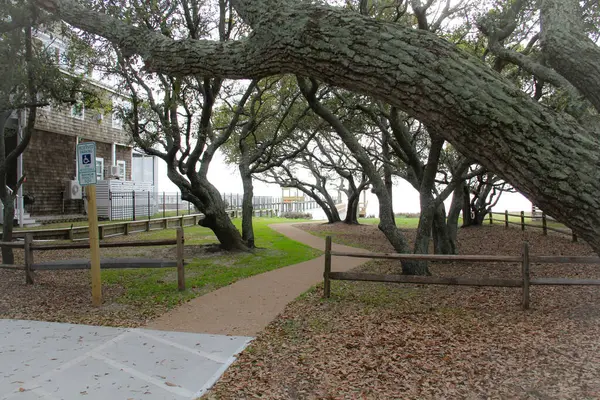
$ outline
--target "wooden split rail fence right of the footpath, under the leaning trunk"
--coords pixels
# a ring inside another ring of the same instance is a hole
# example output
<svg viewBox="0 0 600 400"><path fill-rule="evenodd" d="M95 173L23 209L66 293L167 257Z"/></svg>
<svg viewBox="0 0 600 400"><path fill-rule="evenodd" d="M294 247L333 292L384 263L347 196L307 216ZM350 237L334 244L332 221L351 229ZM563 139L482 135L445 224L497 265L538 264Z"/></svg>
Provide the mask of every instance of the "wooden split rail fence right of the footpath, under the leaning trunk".
<svg viewBox="0 0 600 400"><path fill-rule="evenodd" d="M443 277L443 276L416 276L416 275L380 275L359 272L333 272L331 271L332 257L355 257L385 260L419 260L419 261L462 261L483 263L520 263L521 279L514 278L469 278L469 277ZM439 255L439 254L393 254L393 253L345 253L331 250L331 236L325 239L325 271L323 273L323 296L331 296L331 281L367 281L409 283L419 285L460 285L460 286L495 286L495 287L520 287L523 289L522 306L529 308L529 287L532 285L600 285L600 279L571 279L571 278L532 278L531 264L600 264L600 257L584 256L537 256L529 254L529 245L523 243L520 256L493 256L493 255Z"/></svg>

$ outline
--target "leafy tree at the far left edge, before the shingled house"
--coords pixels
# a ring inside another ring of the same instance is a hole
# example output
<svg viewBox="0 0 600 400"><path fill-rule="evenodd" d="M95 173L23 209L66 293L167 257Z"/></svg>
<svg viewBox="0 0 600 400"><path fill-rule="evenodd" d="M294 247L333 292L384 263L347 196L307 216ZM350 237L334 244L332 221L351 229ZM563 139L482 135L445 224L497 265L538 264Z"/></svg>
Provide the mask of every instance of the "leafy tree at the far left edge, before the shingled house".
<svg viewBox="0 0 600 400"><path fill-rule="evenodd" d="M67 53L59 66L46 46L36 38L36 30L60 31L55 21L40 15L26 0L2 1L0 8L0 200L3 205L2 240L13 238L15 201L25 180L25 171L16 181L9 177L12 166L34 133L38 108L73 102L81 92L82 79L74 71L78 60ZM67 71L71 69L70 73ZM91 94L91 93L90 93ZM18 129L9 126L17 116ZM15 138L16 136L16 138ZM12 141L13 146L8 145ZM2 262L14 263L12 248L2 247Z"/></svg>

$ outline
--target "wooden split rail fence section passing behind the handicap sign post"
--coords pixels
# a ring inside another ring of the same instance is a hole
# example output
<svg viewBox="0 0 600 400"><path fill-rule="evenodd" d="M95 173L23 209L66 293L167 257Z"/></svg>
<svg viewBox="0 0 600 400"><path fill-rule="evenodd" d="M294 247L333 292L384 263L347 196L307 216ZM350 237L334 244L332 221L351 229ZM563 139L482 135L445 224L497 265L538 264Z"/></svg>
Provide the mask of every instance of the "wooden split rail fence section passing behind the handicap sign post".
<svg viewBox="0 0 600 400"><path fill-rule="evenodd" d="M149 260L141 258L105 258L100 260L100 268L177 268L177 288L185 290L185 262L183 259L185 238L183 228L178 227L175 239L164 240L138 240L129 242L100 242L100 248L115 247L149 247L149 246L167 246L176 245L176 259L171 260ZM14 249L23 249L24 265L6 265L0 264L0 268L11 270L24 270L25 282L32 285L34 282L34 271L51 270L72 270L72 269L90 269L89 260L60 260L52 262L34 263L34 251L48 250L71 250L71 249L89 249L89 243L36 243L33 241L33 235L25 235L23 242L0 242L0 247L12 247Z"/></svg>

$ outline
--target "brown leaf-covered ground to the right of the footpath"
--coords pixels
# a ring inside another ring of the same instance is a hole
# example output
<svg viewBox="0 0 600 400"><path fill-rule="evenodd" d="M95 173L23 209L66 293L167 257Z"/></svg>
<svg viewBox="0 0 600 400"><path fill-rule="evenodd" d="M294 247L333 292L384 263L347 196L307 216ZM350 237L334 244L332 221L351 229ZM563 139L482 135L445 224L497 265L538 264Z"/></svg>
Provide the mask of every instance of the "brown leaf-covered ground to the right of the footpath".
<svg viewBox="0 0 600 400"><path fill-rule="evenodd" d="M304 225L385 251L375 226ZM413 231L406 231L412 238ZM461 229L461 254L592 255L585 243L499 226ZM369 272L399 265L370 262ZM431 265L434 275L518 277L517 264ZM534 265L533 276L598 278L593 265ZM598 399L600 290L333 282L291 303L207 396L215 399Z"/></svg>

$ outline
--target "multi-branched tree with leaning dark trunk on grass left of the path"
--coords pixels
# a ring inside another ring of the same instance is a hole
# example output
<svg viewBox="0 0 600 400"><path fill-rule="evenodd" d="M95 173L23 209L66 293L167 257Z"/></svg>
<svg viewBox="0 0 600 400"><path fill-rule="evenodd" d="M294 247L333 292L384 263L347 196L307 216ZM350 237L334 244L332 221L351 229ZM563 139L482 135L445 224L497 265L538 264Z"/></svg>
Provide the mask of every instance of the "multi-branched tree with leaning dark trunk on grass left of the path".
<svg viewBox="0 0 600 400"><path fill-rule="evenodd" d="M158 1L150 7L132 3L128 14L140 26L156 29L165 37L187 40L209 35L210 26L216 24L219 41L226 45L234 30L231 9L226 1L219 1L217 20L214 21L205 15L204 7L208 6L210 4L192 0ZM114 11L120 13L122 10ZM242 119L255 84L250 84L243 95L235 99L236 110L229 126L215 130L215 104L224 86L235 86L235 82L199 74L188 77L150 74L137 57L119 47L112 51L118 63L111 65L109 62L106 67L119 76L131 98L131 108L123 109L121 113L134 143L166 163L167 176L181 191L182 199L194 204L204 215L199 224L214 232L223 249L247 250L248 243L233 225L221 194L207 175L216 152L230 139ZM111 50L108 53L113 54ZM252 240L252 247L253 238L248 239Z"/></svg>

